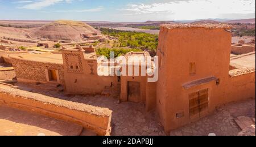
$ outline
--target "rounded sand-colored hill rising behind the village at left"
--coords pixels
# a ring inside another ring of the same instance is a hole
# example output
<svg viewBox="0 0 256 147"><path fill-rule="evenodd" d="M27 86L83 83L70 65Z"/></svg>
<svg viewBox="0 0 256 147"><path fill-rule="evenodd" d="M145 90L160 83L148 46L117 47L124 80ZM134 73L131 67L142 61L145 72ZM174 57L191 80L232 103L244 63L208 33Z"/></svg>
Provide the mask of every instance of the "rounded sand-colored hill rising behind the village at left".
<svg viewBox="0 0 256 147"><path fill-rule="evenodd" d="M30 31L32 38L49 41L79 41L85 34L100 34L100 32L86 23L71 20L57 20L43 27L32 28Z"/></svg>

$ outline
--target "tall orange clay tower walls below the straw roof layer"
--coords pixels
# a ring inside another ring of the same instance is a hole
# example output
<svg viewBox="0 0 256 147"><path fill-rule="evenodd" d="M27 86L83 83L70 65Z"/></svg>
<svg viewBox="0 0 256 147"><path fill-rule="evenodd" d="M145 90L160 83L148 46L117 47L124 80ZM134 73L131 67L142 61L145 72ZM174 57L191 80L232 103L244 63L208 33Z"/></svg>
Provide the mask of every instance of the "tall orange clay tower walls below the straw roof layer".
<svg viewBox="0 0 256 147"><path fill-rule="evenodd" d="M214 110L222 88L228 80L231 33L223 28L162 27L159 35L159 80L156 85L156 110L166 131L193 121L188 113L188 95L202 89L209 90L208 113ZM193 64L193 72L191 72ZM184 89L183 85L207 77L208 81Z"/></svg>

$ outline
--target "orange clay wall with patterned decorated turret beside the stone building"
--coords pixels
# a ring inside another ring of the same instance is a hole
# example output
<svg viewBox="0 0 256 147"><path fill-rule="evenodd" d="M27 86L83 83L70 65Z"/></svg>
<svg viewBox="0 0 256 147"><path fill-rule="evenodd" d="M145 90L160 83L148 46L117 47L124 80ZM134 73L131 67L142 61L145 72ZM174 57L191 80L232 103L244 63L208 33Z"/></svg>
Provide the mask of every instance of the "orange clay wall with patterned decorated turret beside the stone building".
<svg viewBox="0 0 256 147"><path fill-rule="evenodd" d="M117 77L98 76L97 60L85 59L83 51L63 51L63 59L67 93L101 94L107 88L117 88Z"/></svg>

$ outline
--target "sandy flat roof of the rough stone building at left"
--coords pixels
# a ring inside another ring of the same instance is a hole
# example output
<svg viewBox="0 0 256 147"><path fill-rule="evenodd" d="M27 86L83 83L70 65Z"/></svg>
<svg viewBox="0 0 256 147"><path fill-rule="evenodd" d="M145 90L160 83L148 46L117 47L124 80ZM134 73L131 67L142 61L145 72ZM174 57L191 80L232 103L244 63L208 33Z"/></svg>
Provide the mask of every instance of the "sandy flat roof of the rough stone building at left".
<svg viewBox="0 0 256 147"><path fill-rule="evenodd" d="M16 58L31 60L35 62L63 64L62 54L53 54L53 53L27 54L27 55L20 55L19 57L16 57Z"/></svg>

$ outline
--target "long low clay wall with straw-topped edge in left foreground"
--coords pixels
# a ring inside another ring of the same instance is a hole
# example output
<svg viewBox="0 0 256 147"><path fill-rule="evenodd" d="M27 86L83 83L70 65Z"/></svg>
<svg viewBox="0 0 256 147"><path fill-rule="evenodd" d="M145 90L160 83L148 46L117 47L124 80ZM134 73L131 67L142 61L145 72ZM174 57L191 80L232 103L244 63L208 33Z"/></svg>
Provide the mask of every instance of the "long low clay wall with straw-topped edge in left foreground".
<svg viewBox="0 0 256 147"><path fill-rule="evenodd" d="M76 123L97 135L109 135L112 111L82 103L60 100L0 84L0 105L26 110Z"/></svg>

